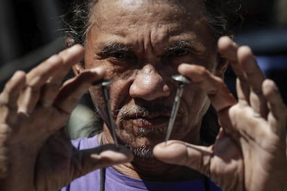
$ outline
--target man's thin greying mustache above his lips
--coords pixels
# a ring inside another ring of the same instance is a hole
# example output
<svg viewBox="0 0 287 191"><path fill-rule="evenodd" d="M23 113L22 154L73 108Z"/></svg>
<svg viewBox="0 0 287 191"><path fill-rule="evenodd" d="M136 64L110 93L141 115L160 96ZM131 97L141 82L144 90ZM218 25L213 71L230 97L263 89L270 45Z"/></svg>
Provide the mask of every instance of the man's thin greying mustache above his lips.
<svg viewBox="0 0 287 191"><path fill-rule="evenodd" d="M135 117L148 117L150 115L157 116L170 116L172 106L168 106L162 103L148 103L148 104L133 104L126 105L119 109L118 117L120 120L124 120L126 118ZM183 111L182 109L178 109L177 118L182 118Z"/></svg>

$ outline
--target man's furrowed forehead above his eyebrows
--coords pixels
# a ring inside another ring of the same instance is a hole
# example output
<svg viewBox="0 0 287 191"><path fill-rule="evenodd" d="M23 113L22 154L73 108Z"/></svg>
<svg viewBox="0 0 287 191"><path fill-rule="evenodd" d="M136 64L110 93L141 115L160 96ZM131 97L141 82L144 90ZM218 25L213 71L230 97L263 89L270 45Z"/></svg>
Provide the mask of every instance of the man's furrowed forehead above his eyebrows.
<svg viewBox="0 0 287 191"><path fill-rule="evenodd" d="M99 0L93 8L89 41L161 48L186 40L209 46L211 30L200 0Z"/></svg>

